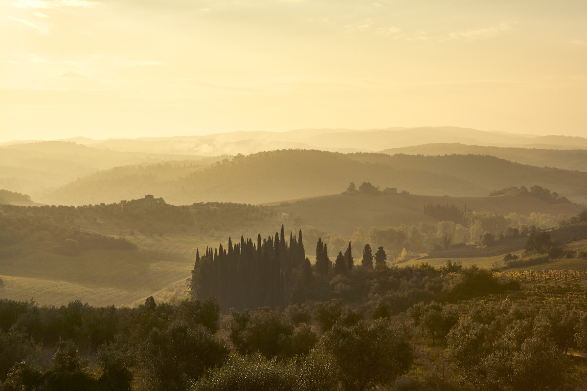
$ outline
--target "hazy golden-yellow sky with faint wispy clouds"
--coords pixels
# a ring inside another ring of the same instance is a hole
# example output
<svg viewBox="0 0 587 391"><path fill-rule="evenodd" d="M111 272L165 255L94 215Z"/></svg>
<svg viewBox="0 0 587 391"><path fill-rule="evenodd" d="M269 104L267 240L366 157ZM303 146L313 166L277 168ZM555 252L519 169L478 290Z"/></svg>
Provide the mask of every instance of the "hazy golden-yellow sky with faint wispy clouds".
<svg viewBox="0 0 587 391"><path fill-rule="evenodd" d="M0 140L587 137L585 0L0 0Z"/></svg>

